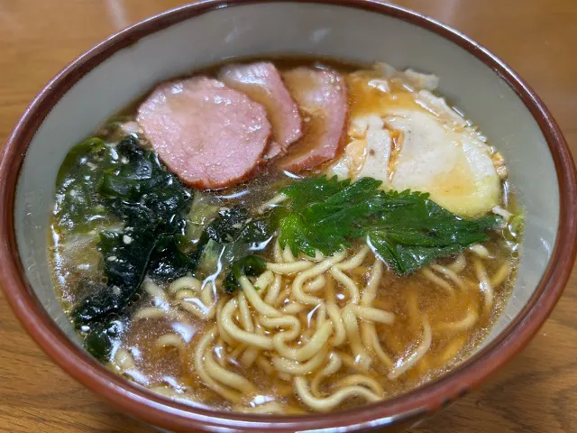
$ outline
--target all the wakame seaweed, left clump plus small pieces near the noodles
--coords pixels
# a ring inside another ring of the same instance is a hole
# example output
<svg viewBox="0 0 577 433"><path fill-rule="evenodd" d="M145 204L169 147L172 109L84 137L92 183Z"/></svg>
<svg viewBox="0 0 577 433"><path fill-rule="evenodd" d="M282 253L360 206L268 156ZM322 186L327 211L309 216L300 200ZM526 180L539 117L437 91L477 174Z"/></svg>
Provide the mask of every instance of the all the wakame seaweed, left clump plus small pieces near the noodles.
<svg viewBox="0 0 577 433"><path fill-rule="evenodd" d="M206 272L198 269L201 260L216 261L224 272L231 269L225 290L234 291L235 274L263 268L254 252L270 240L270 222L252 219L244 207L223 208L212 221L203 218L199 239L191 240L187 218L194 217L189 215L193 192L133 135L117 145L99 138L78 144L60 169L57 188L61 230L100 229L97 248L106 282L81 281L78 291L87 295L72 312L76 326L87 332L88 351L98 358L105 358L122 333L120 324L147 274L170 282ZM110 219L122 228L110 229L105 224Z"/></svg>

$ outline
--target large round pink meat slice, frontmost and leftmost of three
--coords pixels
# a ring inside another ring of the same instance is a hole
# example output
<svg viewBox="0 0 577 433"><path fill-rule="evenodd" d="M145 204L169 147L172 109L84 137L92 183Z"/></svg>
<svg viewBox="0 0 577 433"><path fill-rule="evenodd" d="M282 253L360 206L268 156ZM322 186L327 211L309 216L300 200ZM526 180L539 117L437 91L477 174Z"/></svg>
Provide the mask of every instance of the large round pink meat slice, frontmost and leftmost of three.
<svg viewBox="0 0 577 433"><path fill-rule="evenodd" d="M160 160L188 185L219 189L256 169L270 139L264 106L206 77L160 84L137 121Z"/></svg>

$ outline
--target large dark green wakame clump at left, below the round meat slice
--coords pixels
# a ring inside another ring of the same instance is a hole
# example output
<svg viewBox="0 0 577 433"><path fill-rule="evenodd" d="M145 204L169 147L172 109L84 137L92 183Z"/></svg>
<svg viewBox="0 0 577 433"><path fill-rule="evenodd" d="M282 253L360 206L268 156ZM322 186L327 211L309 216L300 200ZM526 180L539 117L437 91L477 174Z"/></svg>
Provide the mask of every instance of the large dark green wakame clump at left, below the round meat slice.
<svg viewBox="0 0 577 433"><path fill-rule="evenodd" d="M69 153L65 164L59 175L63 196L59 221L70 223L65 228L89 228L82 219L75 219L77 198L66 199L74 190L71 179L79 171L84 173L82 193L90 205L87 209L97 209L98 215L123 223L120 230L100 231L98 251L103 257L106 284L89 292L72 312L77 327L89 329L87 349L103 357L111 346L109 340L120 332L114 327L115 321L126 314L151 263L154 276L166 281L195 270L193 254L180 252L182 242L177 239L184 235L193 194L162 166L154 152L142 149L134 136L116 146L100 139L81 143Z"/></svg>

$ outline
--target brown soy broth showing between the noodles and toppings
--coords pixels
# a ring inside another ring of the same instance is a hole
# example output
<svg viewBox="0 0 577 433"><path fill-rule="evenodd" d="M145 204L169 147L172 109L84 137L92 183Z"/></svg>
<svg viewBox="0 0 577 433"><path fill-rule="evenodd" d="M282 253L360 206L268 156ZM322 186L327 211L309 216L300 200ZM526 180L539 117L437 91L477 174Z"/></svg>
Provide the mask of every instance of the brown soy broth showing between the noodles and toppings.
<svg viewBox="0 0 577 433"><path fill-rule="evenodd" d="M362 79L378 78L368 65L353 65L336 60L282 58L274 59L273 62L281 72L299 66L339 71L345 76L349 90L349 112L353 114L371 113L380 106L422 110L422 107L416 104L410 91L398 81L392 81L391 88L385 97L377 88L363 87ZM220 67L221 65L217 65L197 71L195 75L215 76ZM364 69L364 71L355 72L359 69ZM120 119L124 124L133 122L135 110L141 102L139 100L128 106L116 119ZM306 134L306 123L304 131ZM116 143L123 133L116 125L107 123L97 135L105 141ZM343 138L342 149L345 141L346 138ZM145 138L142 138L142 143L147 145ZM303 150L293 152L303 152ZM337 160L342 156L342 152L337 155ZM329 161L305 174L306 176L321 175L332 164L334 161ZM257 209L263 203L273 198L279 189L294 180L294 174L283 172L279 170L277 164L272 163L262 168L252 180L231 188L206 191L203 195L210 198L213 206L218 209L241 206L249 209L252 214L258 215ZM519 208L511 193L508 180L502 180L502 187L500 206L507 212L517 215ZM103 260L97 250L98 232L103 228L116 230L121 226L122 222L117 218L107 217L87 232L71 235L63 233L56 223L52 224L49 258L54 286L59 292L62 306L67 314L71 315L74 306L86 295L78 291L79 281L89 279L105 282ZM476 248L467 249L462 254L454 254L435 261L435 269L427 266L411 275L399 276L385 266L376 297L371 301L370 306L373 309L387 311L395 317L392 324L376 323L374 326L375 335L392 366L384 364L375 350L365 347L371 362L369 368L361 368L357 364L358 359L354 358L351 336L347 334L347 339L343 344L331 345L330 348L323 349L327 351L327 354L329 352L336 354L335 356L341 359L343 365L317 383L319 398L325 398L339 389L345 389L349 385L342 385L343 381L346 382L353 376L362 375L366 383L371 382L375 385L358 386L366 386L371 392L381 391L380 398L386 399L435 379L463 362L489 334L490 328L508 302L518 263L519 235L514 232L511 226L501 231L491 232L488 242ZM276 235L260 252L262 257L270 263L278 262L278 257L275 257L273 251L275 240ZM361 241L353 242L347 248L347 258L360 253L363 245ZM297 258L297 260L305 259ZM375 255L372 252L367 253L362 263L347 272L348 277L360 290L366 290L365 288L370 283L375 261ZM457 263L459 261L463 263ZM488 295L484 282L480 281L480 272L486 276L491 285L490 308L485 307ZM287 291L287 296L271 304L273 308L281 309L291 302L289 300L290 288L297 275L298 273L283 275L279 292ZM231 299L242 298L242 295L238 293L228 294L221 290L219 285L222 284L222 274L208 277L201 281L202 287L210 286L207 290L209 295L206 296L212 297L217 311L222 310ZM316 296L322 299L334 299L337 308L343 311L351 300L346 287L342 282L336 281L330 272L325 272L324 278L325 284L321 290L316 291ZM253 278L252 282L254 280ZM274 362L275 357L278 358L279 355L275 354L274 350L261 350L256 361L247 366L248 363L243 363L246 347L238 342L230 345L222 335L215 338L211 349L216 363L220 368L242 376L254 384L255 391L247 392L240 401L232 402L206 386L206 382L199 376L195 367L195 349L206 337L207 332L215 328L215 317L218 313L213 318L201 319L190 310L180 308L180 301L186 301L188 298L197 299L200 295L191 291L188 293L190 297L187 298L187 293L179 290L176 293L180 293L182 297L177 301L174 293L170 293L170 284L156 281L154 289L141 290L140 294L131 300L128 307L130 313L123 324L124 332L114 342L110 356L103 361L111 370L155 392L215 409L259 411L260 408L271 408L261 411L274 413L301 413L315 410L308 406L295 391L295 377L279 371ZM261 336L272 338L278 334L278 329L258 325L261 320L259 312L252 305L249 305L248 311L253 322L257 324L256 328ZM148 314L142 312L148 312ZM237 316L240 314L237 313ZM323 314L326 316L326 313ZM307 345L317 330L317 322L321 322L320 315L320 309L304 309L293 315L301 325L300 335L292 340L294 347L302 348ZM467 322L468 319L474 323ZM327 320L326 317L325 320ZM241 324L242 318L239 316L236 321L237 325ZM426 354L420 357L417 364L409 368L407 372L391 378L391 369L395 365L407 362L419 345L426 340L424 321L430 327L431 333ZM362 328L364 321L359 319L358 323ZM218 332L222 332L220 325L217 328ZM79 328L78 332L82 334L83 329ZM365 343L366 341L362 341L363 345ZM312 381L311 378L326 367L330 357L327 356L322 365L312 368L309 373L303 375L307 381ZM375 391L371 386L378 390ZM333 410L353 407L365 401L359 396L353 396L338 404Z"/></svg>

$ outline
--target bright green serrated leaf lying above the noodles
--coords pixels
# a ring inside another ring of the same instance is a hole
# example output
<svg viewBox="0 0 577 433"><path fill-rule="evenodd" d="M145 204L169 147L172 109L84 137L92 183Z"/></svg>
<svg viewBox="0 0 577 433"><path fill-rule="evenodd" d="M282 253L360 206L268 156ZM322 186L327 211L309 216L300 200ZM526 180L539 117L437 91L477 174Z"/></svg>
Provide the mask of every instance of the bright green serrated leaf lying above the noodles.
<svg viewBox="0 0 577 433"><path fill-rule="evenodd" d="M281 192L289 197L279 219L279 243L293 253L330 254L352 239L367 237L371 247L396 272L408 274L439 257L485 242L499 217L466 220L437 205L427 194L383 191L381 182L354 183L307 178Z"/></svg>

